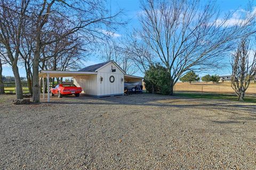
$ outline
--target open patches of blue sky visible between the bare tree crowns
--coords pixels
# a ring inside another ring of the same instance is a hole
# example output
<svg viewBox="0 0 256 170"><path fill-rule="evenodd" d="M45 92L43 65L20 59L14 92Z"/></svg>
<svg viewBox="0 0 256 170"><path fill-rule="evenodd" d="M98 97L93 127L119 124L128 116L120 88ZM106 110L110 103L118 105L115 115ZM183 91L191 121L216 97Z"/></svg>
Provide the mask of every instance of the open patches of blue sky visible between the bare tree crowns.
<svg viewBox="0 0 256 170"><path fill-rule="evenodd" d="M119 28L119 30L115 33L116 37L122 37L125 33L131 31L133 28L139 27L138 22L138 13L141 12L140 9L140 1L139 0L108 0L109 7L111 4L111 11L114 13L118 9L123 9L125 11L125 15L123 18L125 20L130 20L129 24L126 28ZM247 1L246 0L217 0L217 4L220 7L220 10L225 13L229 12L230 10L238 10L242 11L245 9ZM85 67L91 64L102 62L100 57L95 58L95 56L91 56L87 61L84 63ZM22 66L19 66L19 72L21 77L26 77L26 71ZM212 72L212 74L218 75L229 75L230 70L227 68L223 68L222 70L218 70L218 72ZM13 76L12 69L9 66L3 67L3 75L4 76ZM138 76L143 76L140 73L137 74ZM200 74L202 76L203 74Z"/></svg>

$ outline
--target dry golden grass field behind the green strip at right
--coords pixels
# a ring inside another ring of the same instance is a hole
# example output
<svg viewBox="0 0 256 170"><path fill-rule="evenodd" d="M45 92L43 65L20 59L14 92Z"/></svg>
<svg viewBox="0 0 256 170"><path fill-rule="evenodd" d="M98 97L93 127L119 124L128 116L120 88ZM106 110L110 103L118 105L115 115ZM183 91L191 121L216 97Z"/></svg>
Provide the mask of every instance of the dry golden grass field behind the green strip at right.
<svg viewBox="0 0 256 170"><path fill-rule="evenodd" d="M218 93L218 94L233 94L234 91L230 82L225 83L181 83L175 85L175 92L199 92L199 93ZM251 83L246 91L246 94L256 94L256 83Z"/></svg>

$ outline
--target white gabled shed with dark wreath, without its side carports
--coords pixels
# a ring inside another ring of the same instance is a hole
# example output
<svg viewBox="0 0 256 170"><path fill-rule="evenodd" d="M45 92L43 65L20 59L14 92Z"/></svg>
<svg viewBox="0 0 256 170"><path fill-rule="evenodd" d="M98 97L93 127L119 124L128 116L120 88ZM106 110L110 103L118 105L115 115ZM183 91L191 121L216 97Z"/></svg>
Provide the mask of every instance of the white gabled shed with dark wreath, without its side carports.
<svg viewBox="0 0 256 170"><path fill-rule="evenodd" d="M97 72L96 75L74 77L74 84L82 87L82 93L97 97L124 94L125 74L115 62L103 62L79 71Z"/></svg>

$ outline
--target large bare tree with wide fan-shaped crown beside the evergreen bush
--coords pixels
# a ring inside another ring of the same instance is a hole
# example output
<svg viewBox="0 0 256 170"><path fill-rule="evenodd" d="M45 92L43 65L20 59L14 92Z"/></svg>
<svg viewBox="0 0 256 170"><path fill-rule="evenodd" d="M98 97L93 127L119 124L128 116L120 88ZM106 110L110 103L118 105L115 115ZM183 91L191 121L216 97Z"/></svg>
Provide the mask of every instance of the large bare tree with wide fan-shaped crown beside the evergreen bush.
<svg viewBox="0 0 256 170"><path fill-rule="evenodd" d="M213 1L145 0L141 8L141 42L169 70L170 95L187 71L219 68L235 39L255 33L252 9L234 23L235 12L221 19Z"/></svg>

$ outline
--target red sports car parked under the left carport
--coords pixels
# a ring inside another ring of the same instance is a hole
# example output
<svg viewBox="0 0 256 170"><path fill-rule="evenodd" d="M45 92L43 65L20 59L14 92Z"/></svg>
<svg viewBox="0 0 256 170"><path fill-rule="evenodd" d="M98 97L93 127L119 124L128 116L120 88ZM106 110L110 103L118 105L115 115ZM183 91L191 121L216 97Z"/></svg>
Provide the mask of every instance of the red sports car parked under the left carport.
<svg viewBox="0 0 256 170"><path fill-rule="evenodd" d="M58 94L58 98L62 98L63 95L75 94L76 97L82 92L81 87L77 87L74 84L58 84L54 88L51 88L51 96Z"/></svg>

